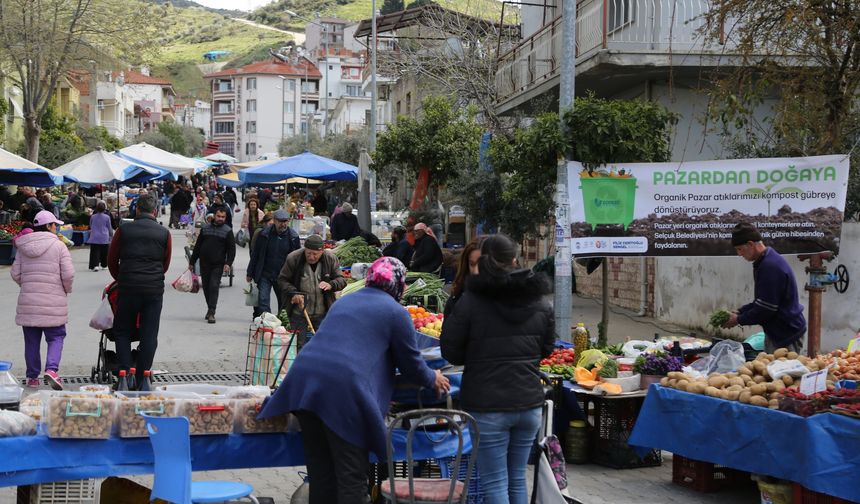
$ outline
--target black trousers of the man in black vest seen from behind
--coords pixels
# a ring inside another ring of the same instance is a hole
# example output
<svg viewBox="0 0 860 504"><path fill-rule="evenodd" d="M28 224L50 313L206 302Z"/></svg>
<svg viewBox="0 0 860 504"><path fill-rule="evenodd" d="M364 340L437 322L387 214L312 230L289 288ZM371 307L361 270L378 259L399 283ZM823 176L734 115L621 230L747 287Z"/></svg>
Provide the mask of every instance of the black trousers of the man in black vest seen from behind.
<svg viewBox="0 0 860 504"><path fill-rule="evenodd" d="M155 349L158 348L158 326L161 322L161 306L164 294L137 294L120 291L116 315L113 321L114 343L119 358L119 368L131 367L131 337L137 332L140 336L137 355L137 380L143 380L143 372L152 369ZM137 328L138 317L140 327Z"/></svg>

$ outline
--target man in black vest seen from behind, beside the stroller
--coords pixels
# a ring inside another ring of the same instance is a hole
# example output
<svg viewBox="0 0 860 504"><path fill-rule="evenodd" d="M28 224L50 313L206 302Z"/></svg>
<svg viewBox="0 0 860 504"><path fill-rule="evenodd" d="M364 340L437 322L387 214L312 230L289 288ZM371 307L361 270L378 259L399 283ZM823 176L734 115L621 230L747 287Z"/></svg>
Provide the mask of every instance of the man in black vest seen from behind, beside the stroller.
<svg viewBox="0 0 860 504"><path fill-rule="evenodd" d="M152 368L158 346L158 326L164 298L164 274L170 267L170 232L155 220L155 196L141 196L134 222L114 232L108 251L108 269L119 289L113 336L119 369L137 367L135 383ZM131 335L135 325L140 335L137 366L132 366Z"/></svg>

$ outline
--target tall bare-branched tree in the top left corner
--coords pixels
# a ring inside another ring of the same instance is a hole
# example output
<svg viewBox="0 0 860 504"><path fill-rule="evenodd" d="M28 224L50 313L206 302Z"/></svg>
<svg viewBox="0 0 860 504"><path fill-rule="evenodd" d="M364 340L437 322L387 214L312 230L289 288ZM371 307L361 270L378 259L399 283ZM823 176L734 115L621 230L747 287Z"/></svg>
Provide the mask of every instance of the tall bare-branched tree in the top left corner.
<svg viewBox="0 0 860 504"><path fill-rule="evenodd" d="M0 2L0 50L22 91L28 159L39 158L42 118L63 75L94 60L141 57L163 18L155 9L121 0Z"/></svg>

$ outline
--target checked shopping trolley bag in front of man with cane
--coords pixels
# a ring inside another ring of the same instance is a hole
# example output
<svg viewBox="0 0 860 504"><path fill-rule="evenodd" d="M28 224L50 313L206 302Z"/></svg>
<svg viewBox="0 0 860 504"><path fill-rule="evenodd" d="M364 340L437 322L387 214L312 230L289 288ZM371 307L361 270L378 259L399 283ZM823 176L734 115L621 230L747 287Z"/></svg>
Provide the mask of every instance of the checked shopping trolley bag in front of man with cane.
<svg viewBox="0 0 860 504"><path fill-rule="evenodd" d="M245 359L245 385L280 385L296 358L297 344L297 331L278 332L251 325Z"/></svg>

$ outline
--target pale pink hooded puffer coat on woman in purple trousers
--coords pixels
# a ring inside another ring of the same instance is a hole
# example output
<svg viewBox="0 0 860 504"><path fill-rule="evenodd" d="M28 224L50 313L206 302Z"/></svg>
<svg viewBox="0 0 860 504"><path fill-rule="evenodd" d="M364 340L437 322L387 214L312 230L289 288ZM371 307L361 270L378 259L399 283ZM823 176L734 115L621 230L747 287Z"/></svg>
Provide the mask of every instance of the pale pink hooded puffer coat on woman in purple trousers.
<svg viewBox="0 0 860 504"><path fill-rule="evenodd" d="M12 280L21 286L15 323L25 327L58 327L69 321L66 296L72 292L75 267L69 249L57 235L39 231L15 240L18 254Z"/></svg>

